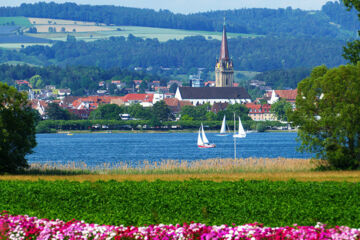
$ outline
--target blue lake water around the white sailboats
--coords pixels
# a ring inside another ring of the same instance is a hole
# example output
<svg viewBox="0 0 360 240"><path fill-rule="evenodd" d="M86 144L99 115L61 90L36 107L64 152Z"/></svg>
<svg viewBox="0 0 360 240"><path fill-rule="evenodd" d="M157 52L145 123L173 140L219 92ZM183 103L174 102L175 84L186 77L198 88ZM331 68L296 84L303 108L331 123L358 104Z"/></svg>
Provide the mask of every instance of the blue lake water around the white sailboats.
<svg viewBox="0 0 360 240"><path fill-rule="evenodd" d="M93 134L39 134L34 153L28 155L29 163L84 162L88 166L104 163L138 165L167 159L199 160L233 158L232 136L218 137L207 133L216 148L200 149L196 145L197 133L93 133ZM296 133L250 133L237 139L237 158L310 158L296 148Z"/></svg>

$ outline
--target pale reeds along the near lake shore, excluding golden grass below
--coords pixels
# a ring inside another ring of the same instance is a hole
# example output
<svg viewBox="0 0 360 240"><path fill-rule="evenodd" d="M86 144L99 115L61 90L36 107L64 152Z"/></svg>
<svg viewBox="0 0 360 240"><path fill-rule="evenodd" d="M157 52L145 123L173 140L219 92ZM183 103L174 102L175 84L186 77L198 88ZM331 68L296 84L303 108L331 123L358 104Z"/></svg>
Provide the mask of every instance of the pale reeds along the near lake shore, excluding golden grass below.
<svg viewBox="0 0 360 240"><path fill-rule="evenodd" d="M215 158L197 161L162 160L160 162L142 161L136 166L119 162L88 166L84 162L33 163L24 173L57 172L76 174L169 174L169 173L241 173L241 172L303 172L316 167L315 160L287 158Z"/></svg>

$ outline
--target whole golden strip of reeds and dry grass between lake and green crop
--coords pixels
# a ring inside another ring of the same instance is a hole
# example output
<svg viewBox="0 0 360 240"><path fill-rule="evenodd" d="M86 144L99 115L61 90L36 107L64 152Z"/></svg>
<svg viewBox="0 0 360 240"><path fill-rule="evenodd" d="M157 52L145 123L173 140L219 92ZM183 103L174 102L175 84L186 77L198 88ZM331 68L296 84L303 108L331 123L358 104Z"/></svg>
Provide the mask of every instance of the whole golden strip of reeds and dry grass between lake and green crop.
<svg viewBox="0 0 360 240"><path fill-rule="evenodd" d="M207 159L197 161L143 161L137 166L127 163L88 166L84 162L33 163L16 175L0 175L0 180L68 180L68 181L348 181L360 182L360 171L314 171L323 164L315 159L246 158Z"/></svg>

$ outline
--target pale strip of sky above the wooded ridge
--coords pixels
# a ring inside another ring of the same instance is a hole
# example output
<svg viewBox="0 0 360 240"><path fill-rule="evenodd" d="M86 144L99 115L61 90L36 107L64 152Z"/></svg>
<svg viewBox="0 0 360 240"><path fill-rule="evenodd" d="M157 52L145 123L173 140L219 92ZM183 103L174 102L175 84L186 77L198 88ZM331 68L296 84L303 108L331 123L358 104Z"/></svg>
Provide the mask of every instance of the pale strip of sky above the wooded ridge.
<svg viewBox="0 0 360 240"><path fill-rule="evenodd" d="M175 13L195 13L238 8L300 8L319 10L328 1L336 0L42 0L43 2L75 2L77 4L116 5L136 8L168 9ZM18 6L38 0L0 0L0 6Z"/></svg>

